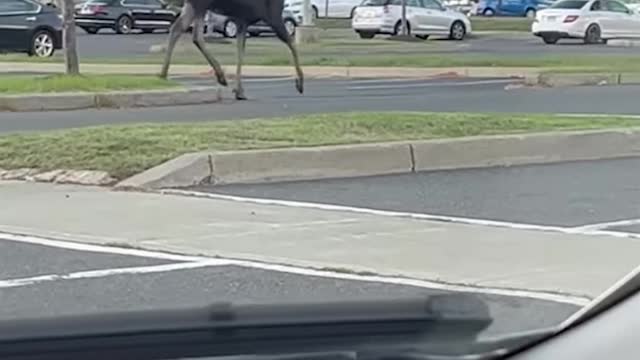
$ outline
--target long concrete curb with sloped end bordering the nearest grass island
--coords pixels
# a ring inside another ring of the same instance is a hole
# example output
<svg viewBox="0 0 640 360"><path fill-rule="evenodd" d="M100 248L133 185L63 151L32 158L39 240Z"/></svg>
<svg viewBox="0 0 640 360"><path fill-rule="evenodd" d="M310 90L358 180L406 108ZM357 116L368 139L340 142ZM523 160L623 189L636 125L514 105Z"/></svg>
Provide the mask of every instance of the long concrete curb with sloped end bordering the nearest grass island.
<svg viewBox="0 0 640 360"><path fill-rule="evenodd" d="M640 156L640 128L182 155L116 184L264 183Z"/></svg>

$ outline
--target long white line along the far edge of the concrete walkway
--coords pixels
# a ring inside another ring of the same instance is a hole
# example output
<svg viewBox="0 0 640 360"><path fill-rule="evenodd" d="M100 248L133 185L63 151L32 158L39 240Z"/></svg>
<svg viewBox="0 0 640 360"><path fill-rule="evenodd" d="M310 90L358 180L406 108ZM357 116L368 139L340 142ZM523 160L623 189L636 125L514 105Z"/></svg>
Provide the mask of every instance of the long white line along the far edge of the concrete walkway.
<svg viewBox="0 0 640 360"><path fill-rule="evenodd" d="M353 207L353 206L332 205L332 204L303 202L303 201L252 198L252 197L244 197L244 196L205 193L205 192L199 192L199 191L178 190L178 189L163 189L163 190L160 190L160 193L167 194L167 195L181 195L181 196L193 196L193 197L210 198L210 199L218 199L218 200L230 200L230 201L262 204L262 205L279 205L279 206L318 209L318 210L327 210L327 211L344 211L344 212L352 212L352 213L359 213L359 214L410 218L410 219L416 219L416 220L451 222L451 223L468 224L468 225L493 226L493 227L518 229L518 230L551 231L551 232L560 232L565 234L580 234L580 235L611 235L611 236L617 236L617 237L628 237L628 238L640 239L640 234L626 233L626 232L619 232L619 231L605 231L605 230L598 230L598 229L591 230L591 229L583 229L583 227L562 227L562 226L524 224L524 223L516 223L516 222L508 222L508 221L412 213L412 212L404 212L404 211L377 210L377 209L360 208L360 207Z"/></svg>

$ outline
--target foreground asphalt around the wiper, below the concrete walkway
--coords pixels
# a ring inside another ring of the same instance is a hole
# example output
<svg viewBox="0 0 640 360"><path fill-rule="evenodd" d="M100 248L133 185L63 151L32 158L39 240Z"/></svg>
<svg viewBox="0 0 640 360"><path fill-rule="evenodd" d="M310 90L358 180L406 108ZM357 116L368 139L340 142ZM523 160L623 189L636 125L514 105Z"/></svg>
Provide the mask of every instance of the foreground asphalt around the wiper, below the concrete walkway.
<svg viewBox="0 0 640 360"><path fill-rule="evenodd" d="M237 304L318 302L444 293L240 266L144 273L146 269L169 263L183 262L7 241L0 234L0 321L175 309L225 301ZM117 273L119 269L124 271ZM496 295L480 295L480 298L489 305L494 317L484 336L552 326L577 310L574 305L530 298Z"/></svg>

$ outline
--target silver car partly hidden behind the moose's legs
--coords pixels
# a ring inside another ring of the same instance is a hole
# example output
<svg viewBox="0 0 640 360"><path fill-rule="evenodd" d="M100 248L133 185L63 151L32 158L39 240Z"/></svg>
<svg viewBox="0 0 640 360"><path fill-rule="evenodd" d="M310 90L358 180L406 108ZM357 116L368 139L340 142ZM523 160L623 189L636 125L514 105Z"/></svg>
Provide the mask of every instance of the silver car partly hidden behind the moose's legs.
<svg viewBox="0 0 640 360"><path fill-rule="evenodd" d="M282 19L284 20L284 26L287 28L287 32L290 36L293 36L296 32L296 27L302 22L302 15L296 16L291 11L284 10L282 12ZM205 32L215 31L229 38L236 37L238 33L238 27L232 19L211 11L207 13L205 24ZM251 36L259 36L263 33L271 33L272 30L269 25L260 21L249 26L248 32Z"/></svg>

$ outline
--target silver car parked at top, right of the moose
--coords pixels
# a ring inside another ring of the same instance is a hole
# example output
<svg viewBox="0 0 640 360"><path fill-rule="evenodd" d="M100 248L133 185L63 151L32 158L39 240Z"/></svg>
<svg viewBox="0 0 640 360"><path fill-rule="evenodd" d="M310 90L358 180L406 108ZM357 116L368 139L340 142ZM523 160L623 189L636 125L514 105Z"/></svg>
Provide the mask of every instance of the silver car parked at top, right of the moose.
<svg viewBox="0 0 640 360"><path fill-rule="evenodd" d="M446 35L462 40L471 34L471 22L459 11L444 7L438 0L406 0L408 33L427 39ZM364 0L356 8L351 26L363 39L376 34L399 34L402 29L402 0Z"/></svg>

